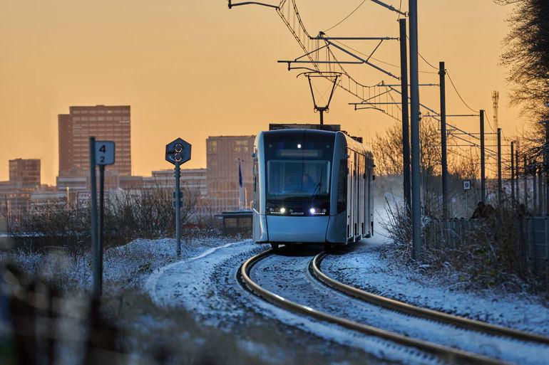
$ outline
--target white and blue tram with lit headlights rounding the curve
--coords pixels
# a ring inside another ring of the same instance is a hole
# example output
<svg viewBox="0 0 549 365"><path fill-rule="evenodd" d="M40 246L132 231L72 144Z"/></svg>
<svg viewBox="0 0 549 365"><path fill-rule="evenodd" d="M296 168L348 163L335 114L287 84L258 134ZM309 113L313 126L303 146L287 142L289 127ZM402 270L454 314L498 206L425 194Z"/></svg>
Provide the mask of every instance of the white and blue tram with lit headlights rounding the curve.
<svg viewBox="0 0 549 365"><path fill-rule="evenodd" d="M374 159L344 132L277 129L255 139L253 239L347 244L374 233Z"/></svg>

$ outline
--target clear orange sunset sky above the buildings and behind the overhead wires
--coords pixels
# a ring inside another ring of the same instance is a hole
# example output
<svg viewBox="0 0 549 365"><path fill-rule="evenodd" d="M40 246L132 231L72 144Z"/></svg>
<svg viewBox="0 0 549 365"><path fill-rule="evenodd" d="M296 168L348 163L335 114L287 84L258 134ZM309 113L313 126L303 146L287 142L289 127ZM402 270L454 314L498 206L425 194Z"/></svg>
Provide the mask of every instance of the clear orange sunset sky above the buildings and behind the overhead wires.
<svg viewBox="0 0 549 365"><path fill-rule="evenodd" d="M297 4L309 33L316 34L360 2ZM419 3L420 52L431 63L446 61L466 101L490 118L491 91L499 90L500 126L513 134L518 110L507 106L505 69L498 65L511 9L490 0ZM55 183L57 115L70 105L131 105L133 174L140 175L170 167L163 149L175 137L193 144L185 167L199 167L205 166L209 135L255 134L269 122L318 120L307 81L276 62L301 53L272 9L229 10L223 0L2 0L1 9L0 180L8 179L9 159L40 158L43 182ZM330 34L398 36L396 14L366 1ZM371 46L359 45L364 52ZM398 43L382 47L376 57L398 64ZM421 61L420 68L429 70ZM389 80L364 65L349 72L364 83ZM437 78L420 75L424 83ZM447 95L448 114L468 112L449 84ZM438 110L438 90L422 89L420 98ZM355 101L337 90L326 122L365 137L391 125L379 112L355 112L347 105ZM478 130L476 119L456 124Z"/></svg>

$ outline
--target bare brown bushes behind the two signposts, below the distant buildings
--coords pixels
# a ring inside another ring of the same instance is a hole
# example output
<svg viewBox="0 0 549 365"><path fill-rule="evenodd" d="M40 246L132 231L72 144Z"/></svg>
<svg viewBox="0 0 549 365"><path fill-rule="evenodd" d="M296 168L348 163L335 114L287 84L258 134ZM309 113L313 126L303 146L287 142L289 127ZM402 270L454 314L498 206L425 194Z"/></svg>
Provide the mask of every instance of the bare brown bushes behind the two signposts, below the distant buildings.
<svg viewBox="0 0 549 365"><path fill-rule="evenodd" d="M183 191L181 222L195 213L200 192ZM105 206L105 243L119 245L136 238L163 238L175 234L172 189L158 186L148 190L118 190L109 194ZM11 232L26 248L47 246L74 248L90 243L90 209L67 204L50 205L17 217Z"/></svg>

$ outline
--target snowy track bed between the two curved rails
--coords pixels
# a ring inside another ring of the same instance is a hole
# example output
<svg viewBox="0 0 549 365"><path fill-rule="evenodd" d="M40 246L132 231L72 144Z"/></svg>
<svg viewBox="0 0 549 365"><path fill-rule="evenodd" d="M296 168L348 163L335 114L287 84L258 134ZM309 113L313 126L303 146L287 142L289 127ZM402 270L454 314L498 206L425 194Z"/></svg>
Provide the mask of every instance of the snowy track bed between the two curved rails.
<svg viewBox="0 0 549 365"><path fill-rule="evenodd" d="M514 364L545 364L545 359L549 359L549 347L545 345L458 329L386 310L335 292L309 274L311 259L310 254L281 251L279 255L270 255L257 262L250 277L260 287L286 300L406 337Z"/></svg>

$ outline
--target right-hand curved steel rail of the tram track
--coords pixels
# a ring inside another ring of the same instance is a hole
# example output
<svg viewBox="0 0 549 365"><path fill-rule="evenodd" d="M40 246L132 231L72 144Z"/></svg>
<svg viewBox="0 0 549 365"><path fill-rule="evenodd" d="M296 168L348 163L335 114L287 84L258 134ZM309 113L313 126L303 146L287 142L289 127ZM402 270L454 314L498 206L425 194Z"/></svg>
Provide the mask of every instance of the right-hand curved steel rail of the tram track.
<svg viewBox="0 0 549 365"><path fill-rule="evenodd" d="M339 290L340 292L344 292L345 294L355 297L359 300L364 300L365 302L379 305L380 307L394 310L396 312L402 312L416 317L431 319L436 322L453 324L454 326L461 327L463 329L470 329L472 331L484 332L496 336L511 337L513 339L518 339L522 341L549 344L549 337L544 337L540 334L524 332L518 329L511 329L508 327L498 326L496 324L477 321L475 319L468 319L453 314L438 312L436 310L416 307L415 305L409 305L408 303L399 302L398 300L393 300L387 297L382 297L381 295L376 295L374 293L366 292L364 290L357 289L356 287L344 284L322 273L322 270L320 270L320 263L322 263L322 259L324 259L325 256L326 253L322 252L314 256L314 258L312 259L309 268L314 277L317 277L318 280L328 285L329 287L332 287L335 290Z"/></svg>

